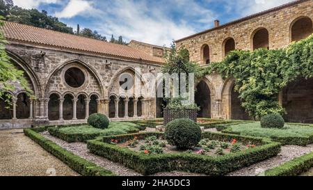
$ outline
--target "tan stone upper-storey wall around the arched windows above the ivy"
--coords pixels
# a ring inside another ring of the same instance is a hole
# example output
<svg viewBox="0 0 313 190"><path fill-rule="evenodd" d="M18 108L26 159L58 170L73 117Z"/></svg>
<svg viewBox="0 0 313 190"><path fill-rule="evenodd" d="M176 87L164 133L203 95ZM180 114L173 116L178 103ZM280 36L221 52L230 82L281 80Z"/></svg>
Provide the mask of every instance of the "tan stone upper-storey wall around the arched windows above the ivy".
<svg viewBox="0 0 313 190"><path fill-rule="evenodd" d="M192 61L205 64L207 60L204 59L207 58L203 56L203 52L207 52L207 48L204 49L204 47L209 45L209 61L222 61L225 56L227 39L234 39L236 49L252 50L255 32L264 28L268 31L268 48L279 49L287 47L291 42L291 26L300 17L308 17L313 20L312 0L179 40L177 47L186 47ZM264 34L259 33L259 35Z"/></svg>

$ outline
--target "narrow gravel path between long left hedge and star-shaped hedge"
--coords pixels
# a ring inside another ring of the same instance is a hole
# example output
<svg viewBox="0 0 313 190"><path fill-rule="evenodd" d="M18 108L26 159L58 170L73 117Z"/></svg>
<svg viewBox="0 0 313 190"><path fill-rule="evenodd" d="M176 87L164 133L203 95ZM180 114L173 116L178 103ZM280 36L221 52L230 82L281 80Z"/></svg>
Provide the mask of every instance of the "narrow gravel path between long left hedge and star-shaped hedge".
<svg viewBox="0 0 313 190"><path fill-rule="evenodd" d="M84 159L87 159L89 161L93 161L98 166L102 166L103 168L106 168L107 170L113 171L117 175L141 176L140 173L137 173L136 171L126 168L125 166L122 166L121 164L110 161L109 159L106 159L104 157L93 155L92 153L89 152L86 143L67 143L66 141L63 141L60 138L51 136L49 132L44 132L42 133L42 135L45 136L45 138L48 138L49 140L54 141L54 143L60 145L66 150L73 152L75 155L78 155L79 157L83 157ZM171 173L157 173L157 174L154 174L154 176L200 176L200 174L174 171Z"/></svg>

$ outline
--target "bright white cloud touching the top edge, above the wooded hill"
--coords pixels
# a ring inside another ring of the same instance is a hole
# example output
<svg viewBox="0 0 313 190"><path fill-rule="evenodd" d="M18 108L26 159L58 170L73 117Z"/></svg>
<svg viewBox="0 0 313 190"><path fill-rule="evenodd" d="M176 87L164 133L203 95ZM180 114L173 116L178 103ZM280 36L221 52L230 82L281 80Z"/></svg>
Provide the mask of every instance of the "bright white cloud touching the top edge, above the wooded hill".
<svg viewBox="0 0 313 190"><path fill-rule="evenodd" d="M93 8L91 1L70 0L67 6L65 6L61 12L55 13L55 15L59 18L69 19L81 14L93 15L95 12L97 12L97 10Z"/></svg>

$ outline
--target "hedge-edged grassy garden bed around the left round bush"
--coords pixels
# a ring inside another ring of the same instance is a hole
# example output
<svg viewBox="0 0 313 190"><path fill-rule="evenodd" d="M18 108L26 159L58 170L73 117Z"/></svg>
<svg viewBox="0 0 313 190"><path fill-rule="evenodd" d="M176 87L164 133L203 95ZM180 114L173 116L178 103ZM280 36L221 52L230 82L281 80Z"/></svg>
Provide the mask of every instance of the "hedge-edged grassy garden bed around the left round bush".
<svg viewBox="0 0 313 190"><path fill-rule="evenodd" d="M90 125L50 127L48 129L52 136L61 138L67 142L86 142L97 136L108 136L117 134L129 134L139 132L137 125L131 122L110 122L108 129L97 129Z"/></svg>

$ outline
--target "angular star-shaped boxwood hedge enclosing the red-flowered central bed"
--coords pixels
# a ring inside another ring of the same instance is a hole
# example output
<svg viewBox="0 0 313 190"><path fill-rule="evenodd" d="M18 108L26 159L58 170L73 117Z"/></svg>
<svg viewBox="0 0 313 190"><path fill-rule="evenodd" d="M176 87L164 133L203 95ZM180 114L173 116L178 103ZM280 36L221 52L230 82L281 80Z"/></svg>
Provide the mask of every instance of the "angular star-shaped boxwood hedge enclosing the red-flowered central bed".
<svg viewBox="0 0 313 190"><path fill-rule="evenodd" d="M186 152L145 155L134 152L129 148L121 148L110 144L112 139L125 142L137 136L163 136L162 133L127 134L118 136L105 136L87 142L88 149L95 155L106 157L111 161L118 162L124 166L134 169L143 175L151 175L159 172L186 171L191 173L204 173L206 175L226 175L232 171L245 166L250 166L264 159L275 157L280 152L280 143L264 141L262 138L237 136L232 134L219 134L204 132L202 138L212 140L231 141L236 138L243 143L255 143L257 146L242 152L231 153L220 157L209 157L204 155L188 154Z"/></svg>

